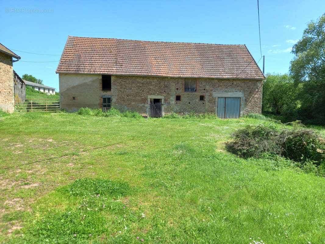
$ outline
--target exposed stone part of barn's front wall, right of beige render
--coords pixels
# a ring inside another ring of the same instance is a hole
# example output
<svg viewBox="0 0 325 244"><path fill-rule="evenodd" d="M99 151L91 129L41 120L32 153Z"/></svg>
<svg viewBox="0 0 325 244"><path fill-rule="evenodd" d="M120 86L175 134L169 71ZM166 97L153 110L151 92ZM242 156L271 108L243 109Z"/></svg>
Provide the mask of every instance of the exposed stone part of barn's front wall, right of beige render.
<svg viewBox="0 0 325 244"><path fill-rule="evenodd" d="M184 92L184 78L112 76L112 106L121 111L146 113L148 95L162 95L165 113L216 113L215 94L232 92L244 94L241 114L261 113L261 80L197 78L197 91ZM181 95L180 102L175 101L176 95ZM205 97L204 101L199 101L200 95Z"/></svg>

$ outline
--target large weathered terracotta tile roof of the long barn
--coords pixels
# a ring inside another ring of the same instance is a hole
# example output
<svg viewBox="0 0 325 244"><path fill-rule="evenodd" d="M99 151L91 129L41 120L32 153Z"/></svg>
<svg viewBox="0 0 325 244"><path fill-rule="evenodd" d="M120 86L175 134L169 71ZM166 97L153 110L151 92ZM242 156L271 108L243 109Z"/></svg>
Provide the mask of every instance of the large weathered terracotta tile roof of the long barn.
<svg viewBox="0 0 325 244"><path fill-rule="evenodd" d="M57 73L265 79L245 45L69 36Z"/></svg>

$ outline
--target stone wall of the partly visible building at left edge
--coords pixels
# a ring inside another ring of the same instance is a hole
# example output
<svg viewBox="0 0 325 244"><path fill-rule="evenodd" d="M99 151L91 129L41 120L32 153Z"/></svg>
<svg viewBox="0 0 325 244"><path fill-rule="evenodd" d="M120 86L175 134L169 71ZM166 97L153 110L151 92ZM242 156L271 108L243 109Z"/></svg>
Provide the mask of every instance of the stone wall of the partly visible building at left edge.
<svg viewBox="0 0 325 244"><path fill-rule="evenodd" d="M14 72L12 57L0 52L0 109L14 112Z"/></svg>

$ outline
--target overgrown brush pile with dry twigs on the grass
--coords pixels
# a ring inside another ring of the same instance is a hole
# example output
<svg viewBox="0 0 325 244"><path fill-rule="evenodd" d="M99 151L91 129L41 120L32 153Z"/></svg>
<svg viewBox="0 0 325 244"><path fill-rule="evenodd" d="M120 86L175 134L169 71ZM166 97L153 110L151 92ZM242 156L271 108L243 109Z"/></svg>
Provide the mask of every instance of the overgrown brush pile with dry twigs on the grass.
<svg viewBox="0 0 325 244"><path fill-rule="evenodd" d="M277 154L296 162L307 159L315 164L324 161L324 139L311 129L302 129L294 123L294 128L277 129L273 124L246 126L232 134L233 141L227 148L243 157L260 157L263 154Z"/></svg>

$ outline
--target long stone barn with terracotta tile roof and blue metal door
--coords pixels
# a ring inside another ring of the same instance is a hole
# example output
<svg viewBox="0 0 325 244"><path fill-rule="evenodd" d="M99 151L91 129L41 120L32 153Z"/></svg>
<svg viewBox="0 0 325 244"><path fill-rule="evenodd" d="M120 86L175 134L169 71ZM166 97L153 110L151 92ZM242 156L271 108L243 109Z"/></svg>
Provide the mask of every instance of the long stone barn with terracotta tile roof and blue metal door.
<svg viewBox="0 0 325 244"><path fill-rule="evenodd" d="M262 108L265 76L245 45L69 36L56 72L69 112L115 107L236 118Z"/></svg>

